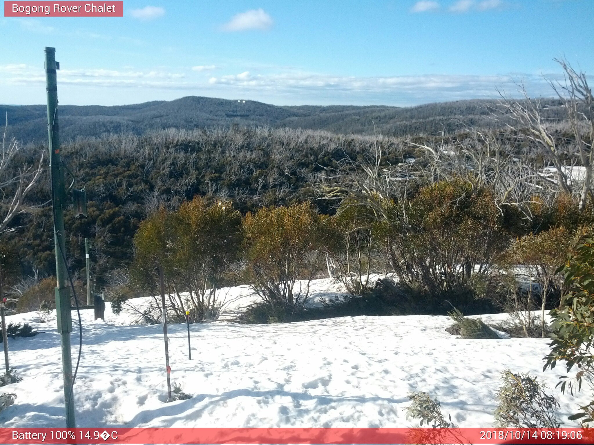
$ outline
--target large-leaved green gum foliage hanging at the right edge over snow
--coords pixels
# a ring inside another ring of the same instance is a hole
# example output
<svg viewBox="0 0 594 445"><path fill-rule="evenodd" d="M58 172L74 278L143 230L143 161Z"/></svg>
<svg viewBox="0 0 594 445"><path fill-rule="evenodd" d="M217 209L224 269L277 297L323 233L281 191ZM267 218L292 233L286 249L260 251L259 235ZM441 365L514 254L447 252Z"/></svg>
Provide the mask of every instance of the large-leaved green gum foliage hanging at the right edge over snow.
<svg viewBox="0 0 594 445"><path fill-rule="evenodd" d="M594 237L583 236L574 249L573 256L560 270L564 276L567 293L561 298L560 307L551 311L551 352L545 357L545 369L554 368L558 362L567 372L576 371L574 379L561 377L561 391L573 393L589 386L592 402L582 406L570 419L580 419L583 424L594 422Z"/></svg>

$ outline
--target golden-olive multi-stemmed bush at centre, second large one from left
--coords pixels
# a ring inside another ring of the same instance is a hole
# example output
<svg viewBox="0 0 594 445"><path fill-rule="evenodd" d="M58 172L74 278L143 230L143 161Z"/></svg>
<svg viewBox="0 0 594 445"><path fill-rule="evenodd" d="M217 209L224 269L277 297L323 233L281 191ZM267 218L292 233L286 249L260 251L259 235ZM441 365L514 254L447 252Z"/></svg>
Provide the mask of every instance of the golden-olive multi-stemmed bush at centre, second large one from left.
<svg viewBox="0 0 594 445"><path fill-rule="evenodd" d="M244 218L247 278L271 307L302 307L323 262L326 227L309 203L266 207ZM299 279L304 280L296 283Z"/></svg>

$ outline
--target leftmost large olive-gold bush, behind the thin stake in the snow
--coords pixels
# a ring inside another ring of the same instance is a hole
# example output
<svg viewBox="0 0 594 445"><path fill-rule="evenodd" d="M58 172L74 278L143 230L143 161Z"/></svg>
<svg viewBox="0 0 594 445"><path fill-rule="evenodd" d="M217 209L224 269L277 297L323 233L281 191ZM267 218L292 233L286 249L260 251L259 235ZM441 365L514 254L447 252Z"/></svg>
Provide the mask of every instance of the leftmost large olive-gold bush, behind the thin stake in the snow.
<svg viewBox="0 0 594 445"><path fill-rule="evenodd" d="M207 205L195 198L175 212L160 208L140 224L134 243L131 278L137 288L160 294L162 268L171 317L183 321L189 310L194 322L217 318L217 291L241 246L241 215L229 202Z"/></svg>

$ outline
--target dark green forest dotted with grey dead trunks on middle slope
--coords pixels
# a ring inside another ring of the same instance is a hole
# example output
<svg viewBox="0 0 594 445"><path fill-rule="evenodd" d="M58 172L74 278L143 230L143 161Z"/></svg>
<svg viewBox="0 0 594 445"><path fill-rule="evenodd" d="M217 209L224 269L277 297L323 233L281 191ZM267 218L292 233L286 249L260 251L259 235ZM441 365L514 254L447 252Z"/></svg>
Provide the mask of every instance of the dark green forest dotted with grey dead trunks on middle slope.
<svg viewBox="0 0 594 445"><path fill-rule="evenodd" d="M295 129L166 129L78 138L62 145L64 161L87 191L88 217L66 213L72 270L84 268L84 237L93 239L97 275L132 260L138 224L160 205L175 208L195 195L230 199L245 213L261 206L314 201L322 212L331 203L315 199L312 180L346 156L356 160L380 141L386 162L399 163L415 151L405 141L380 136L336 135ZM20 162L33 162L42 145L28 145ZM45 171L28 199L38 205L20 215L7 234L20 252L23 273L54 271L53 226Z"/></svg>

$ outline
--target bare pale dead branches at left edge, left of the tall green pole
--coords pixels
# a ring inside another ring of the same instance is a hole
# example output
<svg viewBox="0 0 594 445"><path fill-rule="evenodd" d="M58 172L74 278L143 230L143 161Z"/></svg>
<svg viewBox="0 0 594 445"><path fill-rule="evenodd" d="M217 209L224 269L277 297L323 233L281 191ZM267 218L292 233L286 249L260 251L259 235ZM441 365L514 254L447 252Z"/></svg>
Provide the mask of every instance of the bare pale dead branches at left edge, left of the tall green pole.
<svg viewBox="0 0 594 445"><path fill-rule="evenodd" d="M0 152L0 234L10 231L12 219L31 208L25 198L43 171L45 152L42 150L39 161L33 165L15 166L19 145L15 138L8 138L8 115L2 134Z"/></svg>

